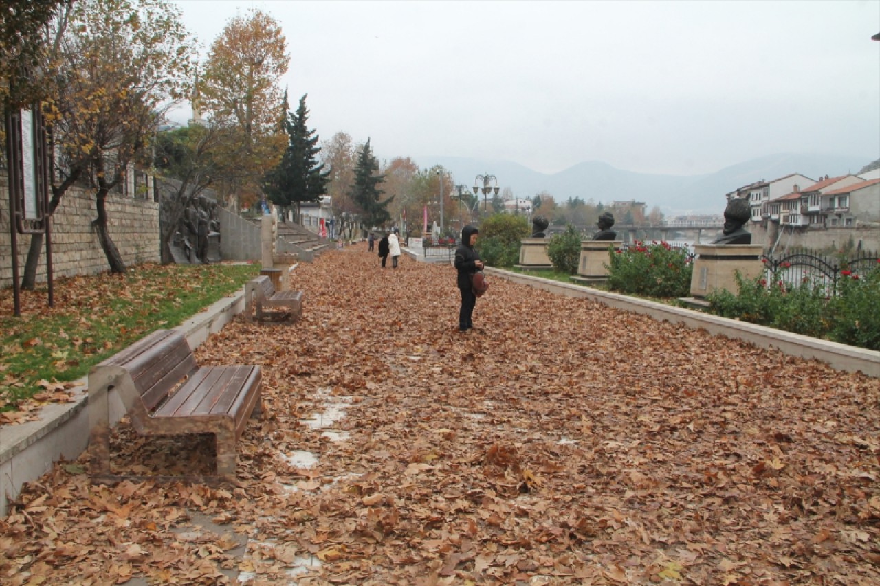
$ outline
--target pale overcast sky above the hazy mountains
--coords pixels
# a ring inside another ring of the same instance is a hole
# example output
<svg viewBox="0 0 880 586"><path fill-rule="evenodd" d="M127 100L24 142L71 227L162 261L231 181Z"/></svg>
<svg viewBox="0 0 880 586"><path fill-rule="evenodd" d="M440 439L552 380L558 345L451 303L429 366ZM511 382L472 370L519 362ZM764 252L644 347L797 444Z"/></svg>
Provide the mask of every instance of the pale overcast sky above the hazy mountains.
<svg viewBox="0 0 880 586"><path fill-rule="evenodd" d="M322 140L369 137L386 160L693 175L780 152L880 157L878 0L175 4L205 48L268 12L292 107L308 93Z"/></svg>

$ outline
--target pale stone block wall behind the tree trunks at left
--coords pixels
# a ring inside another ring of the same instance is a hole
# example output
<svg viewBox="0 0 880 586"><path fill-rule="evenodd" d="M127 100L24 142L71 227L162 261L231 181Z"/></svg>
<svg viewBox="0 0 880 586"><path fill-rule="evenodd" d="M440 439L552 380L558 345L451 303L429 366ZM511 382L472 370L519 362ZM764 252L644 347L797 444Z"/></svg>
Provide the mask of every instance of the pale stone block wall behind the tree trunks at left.
<svg viewBox="0 0 880 586"><path fill-rule="evenodd" d="M159 204L123 196L106 201L110 238L127 267L143 262L159 262ZM64 276L94 275L106 271L106 256L98 235L92 230L96 217L94 196L74 187L62 197L52 217L52 268L55 279ZM0 176L0 287L12 285L9 187ZM18 234L18 275L25 270L31 237ZM37 282L46 282L46 245L40 254Z"/></svg>

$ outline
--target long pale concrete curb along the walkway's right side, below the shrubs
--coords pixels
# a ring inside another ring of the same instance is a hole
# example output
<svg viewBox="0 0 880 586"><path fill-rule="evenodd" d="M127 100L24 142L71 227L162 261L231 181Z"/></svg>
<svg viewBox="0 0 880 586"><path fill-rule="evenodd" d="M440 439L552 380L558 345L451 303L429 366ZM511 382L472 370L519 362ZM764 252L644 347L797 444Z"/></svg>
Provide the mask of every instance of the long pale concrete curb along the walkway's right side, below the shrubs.
<svg viewBox="0 0 880 586"><path fill-rule="evenodd" d="M815 358L834 369L847 372L862 372L869 377L880 377L880 352L856 348L837 342L810 338L797 333L783 332L772 327L756 326L737 319L720 318L702 311L672 307L647 299L628 297L581 285L553 281L521 273L513 273L500 268L484 269L488 275L495 275L511 282L523 283L545 289L559 295L591 299L624 311L641 313L658 321L672 324L685 324L688 327L702 328L713 335L747 341L759 348L776 348L781 352L802 358Z"/></svg>

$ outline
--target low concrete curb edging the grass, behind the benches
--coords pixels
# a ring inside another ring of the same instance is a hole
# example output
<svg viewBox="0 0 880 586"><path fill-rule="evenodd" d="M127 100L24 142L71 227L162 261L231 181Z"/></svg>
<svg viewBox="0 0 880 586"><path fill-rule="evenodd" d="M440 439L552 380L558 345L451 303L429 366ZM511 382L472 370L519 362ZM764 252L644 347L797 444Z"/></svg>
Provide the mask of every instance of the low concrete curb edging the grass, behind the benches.
<svg viewBox="0 0 880 586"><path fill-rule="evenodd" d="M245 311L244 288L211 304L174 329L184 333L191 348L198 348L211 333L219 332L242 311ZM75 382L77 386L70 403L48 404L40 410L38 421L0 427L0 516L6 515L7 502L18 498L22 485L39 479L61 458L78 458L88 447L87 379Z"/></svg>

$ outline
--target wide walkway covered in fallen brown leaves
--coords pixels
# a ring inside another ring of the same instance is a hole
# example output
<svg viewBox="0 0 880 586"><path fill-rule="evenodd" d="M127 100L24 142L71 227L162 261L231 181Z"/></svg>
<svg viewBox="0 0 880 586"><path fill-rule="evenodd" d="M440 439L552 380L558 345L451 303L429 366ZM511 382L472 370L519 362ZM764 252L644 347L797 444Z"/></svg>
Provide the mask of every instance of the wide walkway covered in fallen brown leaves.
<svg viewBox="0 0 880 586"><path fill-rule="evenodd" d="M463 335L454 278L365 245L300 264L295 326L238 317L196 352L264 369L239 486L56 465L0 520L0 582L880 583L876 379L500 279ZM345 436L306 424L328 405ZM123 423L114 466L204 470L210 445Z"/></svg>

